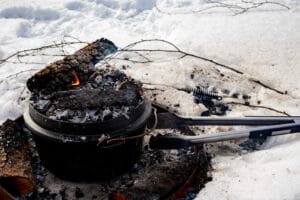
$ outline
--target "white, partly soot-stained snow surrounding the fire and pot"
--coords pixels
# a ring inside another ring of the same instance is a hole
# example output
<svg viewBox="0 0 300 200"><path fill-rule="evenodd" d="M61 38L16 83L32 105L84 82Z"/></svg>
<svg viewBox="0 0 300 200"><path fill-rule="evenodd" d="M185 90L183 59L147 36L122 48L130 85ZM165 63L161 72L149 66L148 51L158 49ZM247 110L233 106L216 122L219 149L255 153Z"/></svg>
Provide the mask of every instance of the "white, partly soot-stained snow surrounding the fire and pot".
<svg viewBox="0 0 300 200"><path fill-rule="evenodd" d="M249 8L253 4L245 1L208 2L0 1L0 59L18 50L61 42L65 35L83 41L107 37L119 47L141 39L164 39L186 52L213 59L245 74L191 57L173 59L174 55L164 53L155 55L155 58L163 59L134 64L126 73L144 82L175 87L202 85L220 91L227 89L230 93L246 93L252 97L251 104L261 101L261 105L300 115L300 3L276 0L280 4L267 3L243 13L241 7L235 5ZM150 48L148 45L145 43L142 48ZM74 50L65 49L68 53ZM25 56L19 59L49 63L57 58ZM21 115L24 101L20 96L28 97L23 89L25 82L44 67L43 64L18 63L15 57L9 61L17 63L0 64L0 123ZM117 62L115 65L118 67ZM224 77L219 76L221 72ZM191 73L195 74L194 79L190 78ZM254 84L251 78L288 94L281 95ZM198 115L204 110L193 104L191 95L172 89L158 98L161 103L180 103L178 111L181 114ZM243 106L233 106L228 113L231 116L262 114L278 115ZM209 129L209 132L213 131L215 129ZM224 146L231 150L224 152ZM215 155L213 181L197 198L300 199L299 151L299 134L269 139L255 152L240 151L231 143L217 144L211 147Z"/></svg>

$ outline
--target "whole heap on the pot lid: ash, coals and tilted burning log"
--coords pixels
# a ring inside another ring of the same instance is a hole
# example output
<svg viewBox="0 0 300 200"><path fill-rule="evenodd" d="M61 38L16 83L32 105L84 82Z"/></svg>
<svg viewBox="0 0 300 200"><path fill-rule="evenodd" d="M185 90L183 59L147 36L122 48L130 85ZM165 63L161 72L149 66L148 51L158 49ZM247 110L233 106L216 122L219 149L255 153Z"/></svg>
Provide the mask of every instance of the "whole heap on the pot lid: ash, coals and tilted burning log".
<svg viewBox="0 0 300 200"><path fill-rule="evenodd" d="M51 119L74 123L127 117L142 101L141 84L110 66L95 69L97 62L116 51L102 38L49 64L27 81L31 105Z"/></svg>

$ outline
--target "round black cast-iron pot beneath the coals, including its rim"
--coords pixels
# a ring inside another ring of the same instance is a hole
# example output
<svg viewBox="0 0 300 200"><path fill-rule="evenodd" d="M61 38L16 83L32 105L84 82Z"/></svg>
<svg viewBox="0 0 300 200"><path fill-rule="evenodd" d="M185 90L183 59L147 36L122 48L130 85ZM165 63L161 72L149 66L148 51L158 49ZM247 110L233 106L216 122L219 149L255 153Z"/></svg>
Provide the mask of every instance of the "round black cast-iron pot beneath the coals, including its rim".
<svg viewBox="0 0 300 200"><path fill-rule="evenodd" d="M103 136L142 134L151 115L145 99L130 114L97 123L70 123L49 119L30 104L24 112L42 164L56 176L75 181L112 178L132 168L139 159L143 137L99 144Z"/></svg>

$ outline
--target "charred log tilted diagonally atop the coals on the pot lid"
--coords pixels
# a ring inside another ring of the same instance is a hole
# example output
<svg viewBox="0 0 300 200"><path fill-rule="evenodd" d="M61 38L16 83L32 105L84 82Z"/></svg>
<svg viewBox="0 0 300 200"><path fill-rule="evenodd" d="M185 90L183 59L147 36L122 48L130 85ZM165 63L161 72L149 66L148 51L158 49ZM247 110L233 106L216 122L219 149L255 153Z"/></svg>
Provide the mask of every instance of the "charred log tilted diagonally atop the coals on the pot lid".
<svg viewBox="0 0 300 200"><path fill-rule="evenodd" d="M41 90L63 90L72 85L73 72L81 82L85 82L94 72L94 65L116 51L117 47L111 41L104 38L96 40L73 55L51 63L37 72L27 81L27 87L31 92L36 93Z"/></svg>

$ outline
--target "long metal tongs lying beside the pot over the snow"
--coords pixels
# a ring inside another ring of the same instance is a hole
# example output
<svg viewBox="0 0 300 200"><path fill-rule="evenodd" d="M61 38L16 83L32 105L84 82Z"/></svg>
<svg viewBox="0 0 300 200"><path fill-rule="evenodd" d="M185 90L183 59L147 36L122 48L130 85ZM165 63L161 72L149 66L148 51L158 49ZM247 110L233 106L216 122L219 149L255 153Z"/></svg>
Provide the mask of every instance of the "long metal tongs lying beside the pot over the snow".
<svg viewBox="0 0 300 200"><path fill-rule="evenodd" d="M300 116L254 116L254 117L185 117L171 112L156 114L156 129L176 129L186 126L261 126L246 130L236 130L198 136L158 135L150 139L151 148L178 149L191 145L221 142L242 138L267 138L300 132ZM264 126L263 126L264 125Z"/></svg>

